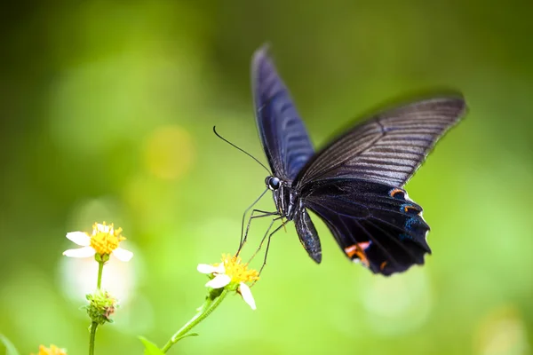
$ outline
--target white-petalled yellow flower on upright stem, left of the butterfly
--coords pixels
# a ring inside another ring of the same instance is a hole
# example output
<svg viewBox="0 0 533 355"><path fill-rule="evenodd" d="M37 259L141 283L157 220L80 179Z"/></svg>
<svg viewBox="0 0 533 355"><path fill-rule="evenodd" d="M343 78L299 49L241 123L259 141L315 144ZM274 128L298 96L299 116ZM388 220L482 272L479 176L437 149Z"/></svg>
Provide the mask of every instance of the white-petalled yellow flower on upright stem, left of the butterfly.
<svg viewBox="0 0 533 355"><path fill-rule="evenodd" d="M69 257L91 257L95 254L99 256L113 254L120 261L130 261L133 253L123 248L118 248L118 244L121 241L125 241L121 233L122 228L115 229L113 224L106 225L106 222L103 225L99 223L92 225L91 235L84 232L67 233L68 240L74 241L83 248L68 249L63 252L63 255Z"/></svg>

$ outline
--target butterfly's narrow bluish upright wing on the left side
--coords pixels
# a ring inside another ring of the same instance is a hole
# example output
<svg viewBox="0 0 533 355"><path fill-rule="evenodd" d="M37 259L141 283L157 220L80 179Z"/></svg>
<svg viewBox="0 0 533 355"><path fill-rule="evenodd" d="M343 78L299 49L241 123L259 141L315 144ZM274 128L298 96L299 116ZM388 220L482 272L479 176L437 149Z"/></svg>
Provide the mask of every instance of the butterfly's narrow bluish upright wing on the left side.
<svg viewBox="0 0 533 355"><path fill-rule="evenodd" d="M275 177L292 181L314 149L266 46L254 53L251 77L259 137L268 162Z"/></svg>

